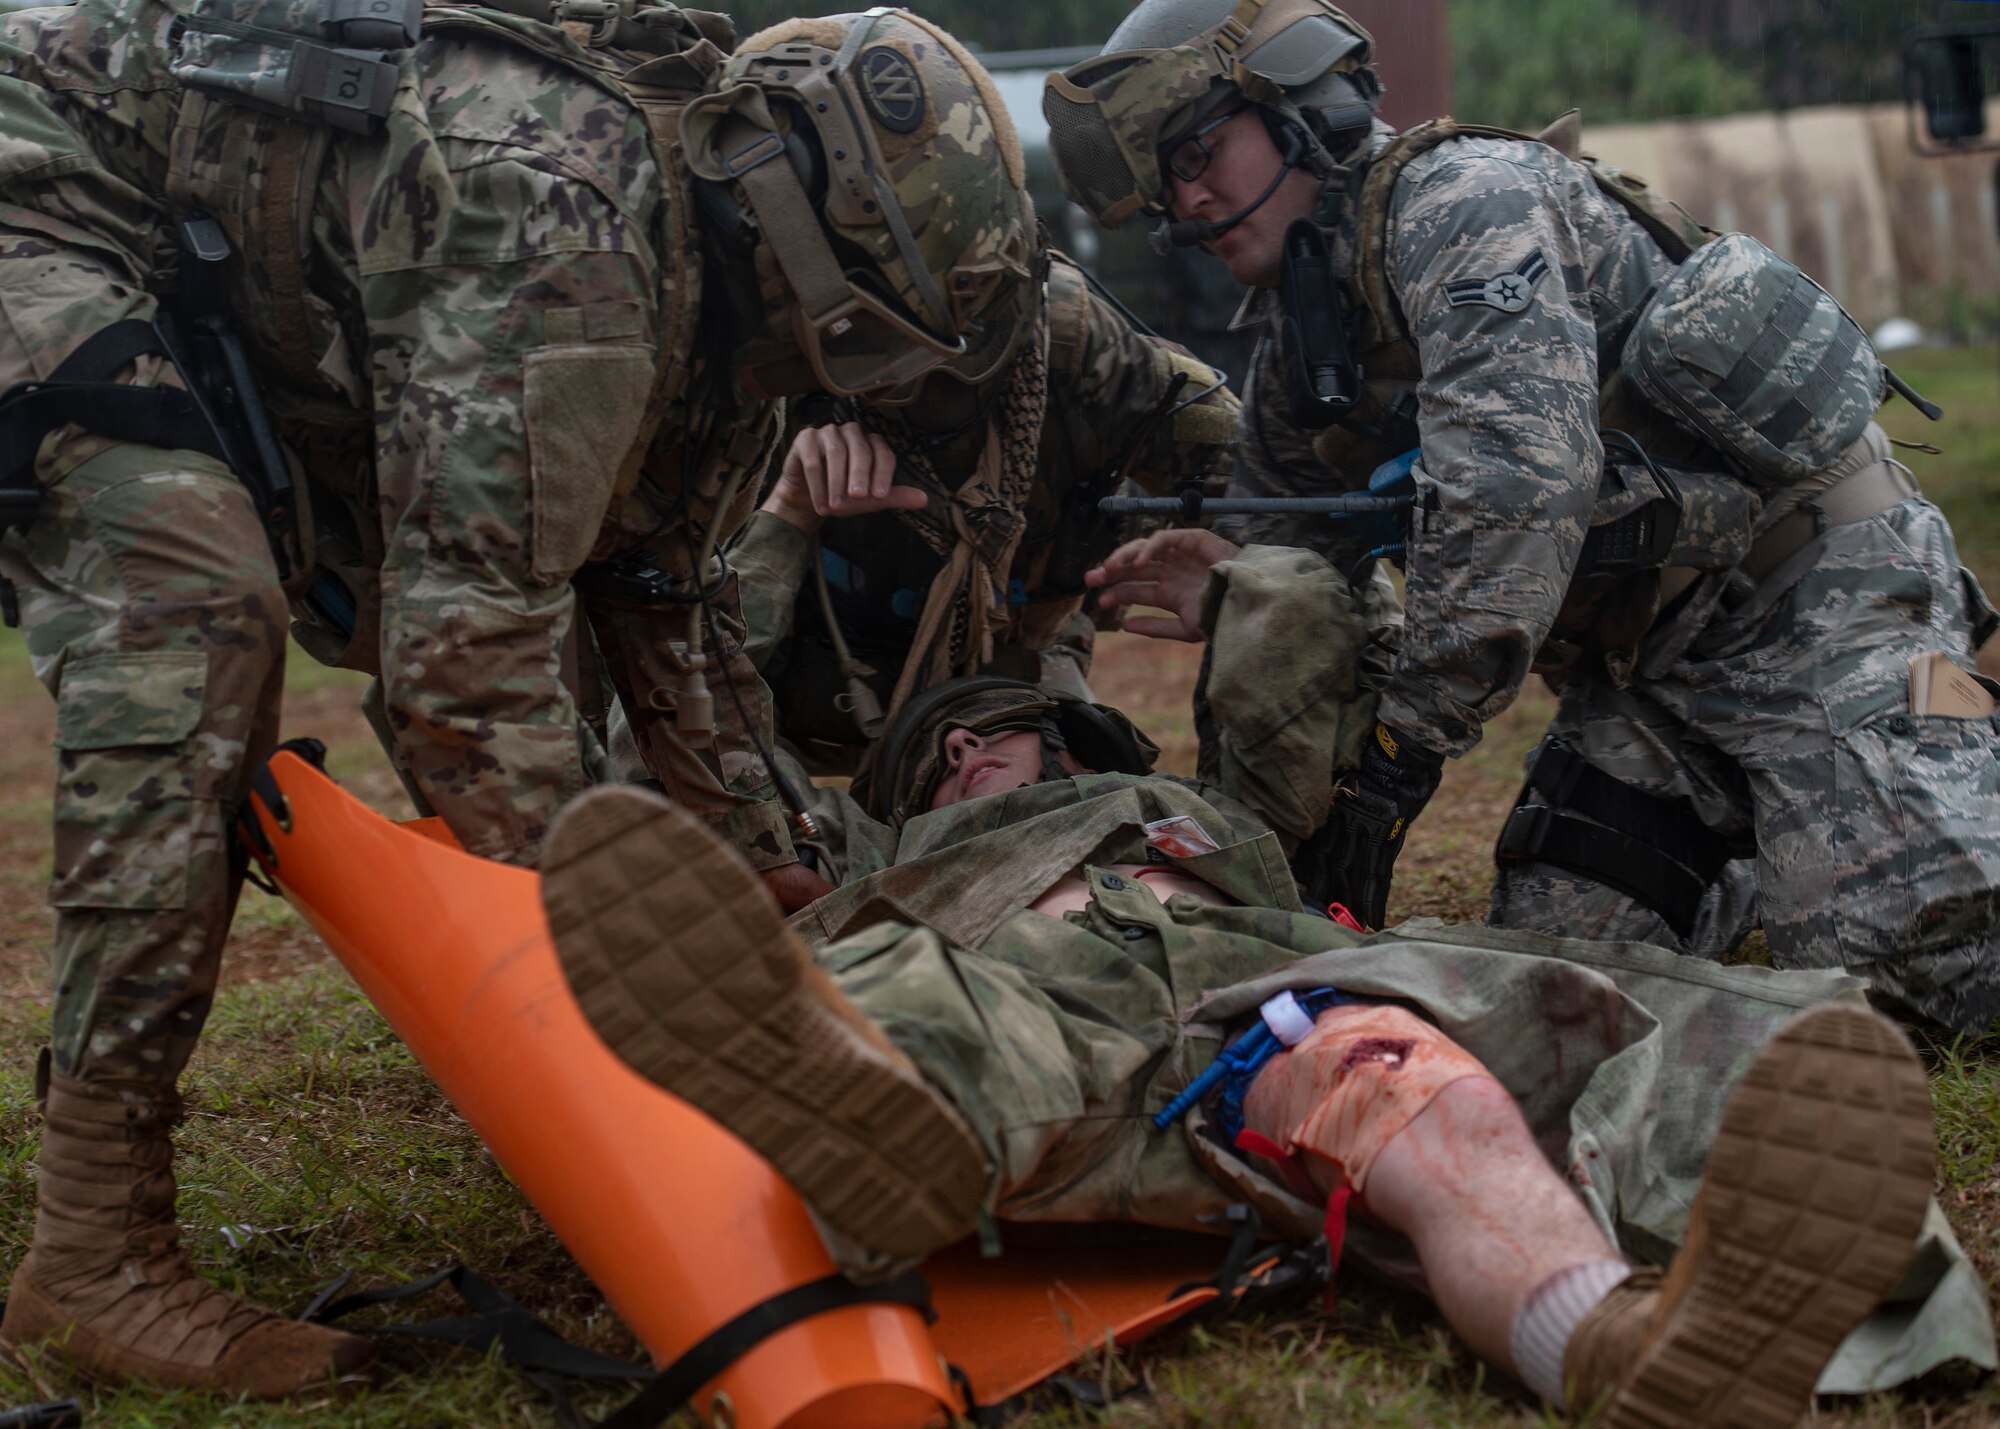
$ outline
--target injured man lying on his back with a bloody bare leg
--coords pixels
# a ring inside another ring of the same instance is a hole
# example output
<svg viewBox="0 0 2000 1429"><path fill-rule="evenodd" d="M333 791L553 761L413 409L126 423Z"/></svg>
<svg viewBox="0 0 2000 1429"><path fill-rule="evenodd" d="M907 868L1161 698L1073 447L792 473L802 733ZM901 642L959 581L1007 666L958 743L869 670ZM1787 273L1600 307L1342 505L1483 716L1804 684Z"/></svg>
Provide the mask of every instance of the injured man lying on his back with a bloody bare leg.
<svg viewBox="0 0 2000 1429"><path fill-rule="evenodd" d="M1380 632L1318 556L1202 538L1154 538L1200 574L1196 779L1102 706L948 684L862 799L820 791L838 887L790 923L656 795L570 805L544 903L612 1051L766 1157L858 1279L982 1223L1248 1203L1344 1227L1600 1423L1788 1425L1816 1385L1990 1365L1924 1069L1858 981L1300 907L1286 855L1372 729Z"/></svg>

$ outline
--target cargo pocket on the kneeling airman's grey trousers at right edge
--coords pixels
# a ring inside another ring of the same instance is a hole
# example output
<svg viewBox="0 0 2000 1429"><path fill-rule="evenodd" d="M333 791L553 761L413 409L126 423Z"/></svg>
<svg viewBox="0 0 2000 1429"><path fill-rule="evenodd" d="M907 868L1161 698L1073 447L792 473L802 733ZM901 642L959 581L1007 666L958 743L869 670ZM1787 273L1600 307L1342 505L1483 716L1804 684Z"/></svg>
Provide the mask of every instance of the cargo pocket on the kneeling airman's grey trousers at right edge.
<svg viewBox="0 0 2000 1429"><path fill-rule="evenodd" d="M1836 737L1840 943L1868 959L1988 939L2000 911L1996 719L1882 712Z"/></svg>

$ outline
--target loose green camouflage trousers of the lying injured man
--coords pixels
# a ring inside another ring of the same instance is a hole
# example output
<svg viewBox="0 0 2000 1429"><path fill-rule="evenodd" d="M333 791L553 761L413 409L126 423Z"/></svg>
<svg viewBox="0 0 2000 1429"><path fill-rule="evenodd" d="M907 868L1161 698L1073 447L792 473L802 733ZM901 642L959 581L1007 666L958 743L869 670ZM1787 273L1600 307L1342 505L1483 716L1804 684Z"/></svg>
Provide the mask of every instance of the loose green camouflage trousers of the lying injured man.
<svg viewBox="0 0 2000 1429"><path fill-rule="evenodd" d="M1162 907L1142 881L1102 869L1088 879L1080 913L1016 913L978 949L892 921L818 951L982 1141L1002 1221L1214 1231L1216 1213L1250 1201L1266 1225L1310 1239L1322 1207L1200 1135L1200 1111L1166 1133L1150 1115L1264 999L1338 987L1408 1005L1478 1057L1604 1233L1660 1263L1680 1241L1728 1089L1798 1009L1860 991L1838 973L1718 967L1626 943L1442 925L1362 937L1186 895ZM1822 1389L1886 1387L1952 1357L1994 1361L1978 1275L1936 1209L1926 1239L1926 1273L1856 1331ZM1352 1223L1348 1247L1424 1283L1388 1233Z"/></svg>

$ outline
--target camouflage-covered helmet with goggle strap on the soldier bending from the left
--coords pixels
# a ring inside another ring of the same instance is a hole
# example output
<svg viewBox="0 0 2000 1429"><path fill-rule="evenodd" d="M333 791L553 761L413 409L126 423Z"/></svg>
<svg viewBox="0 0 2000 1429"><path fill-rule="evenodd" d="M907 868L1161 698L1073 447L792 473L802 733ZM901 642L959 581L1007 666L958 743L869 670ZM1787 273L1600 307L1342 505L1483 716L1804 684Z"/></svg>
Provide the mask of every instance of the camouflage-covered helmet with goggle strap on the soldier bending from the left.
<svg viewBox="0 0 2000 1429"><path fill-rule="evenodd" d="M980 382L1032 326L1042 256L1020 140L992 78L908 10L750 36L680 122L704 208L756 242L762 396L908 400Z"/></svg>

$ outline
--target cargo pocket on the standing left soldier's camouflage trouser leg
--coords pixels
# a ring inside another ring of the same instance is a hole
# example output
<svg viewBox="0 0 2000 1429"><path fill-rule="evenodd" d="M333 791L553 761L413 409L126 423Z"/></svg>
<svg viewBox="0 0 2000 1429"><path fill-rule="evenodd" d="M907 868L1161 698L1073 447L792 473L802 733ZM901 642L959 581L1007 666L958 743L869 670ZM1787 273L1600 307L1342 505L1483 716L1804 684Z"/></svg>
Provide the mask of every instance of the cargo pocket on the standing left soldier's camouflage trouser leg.
<svg viewBox="0 0 2000 1429"><path fill-rule="evenodd" d="M180 909L194 853L200 652L70 662L56 698L56 909Z"/></svg>

